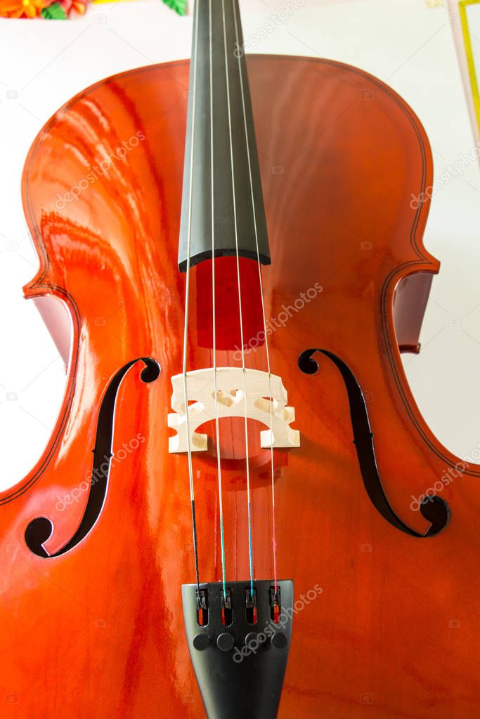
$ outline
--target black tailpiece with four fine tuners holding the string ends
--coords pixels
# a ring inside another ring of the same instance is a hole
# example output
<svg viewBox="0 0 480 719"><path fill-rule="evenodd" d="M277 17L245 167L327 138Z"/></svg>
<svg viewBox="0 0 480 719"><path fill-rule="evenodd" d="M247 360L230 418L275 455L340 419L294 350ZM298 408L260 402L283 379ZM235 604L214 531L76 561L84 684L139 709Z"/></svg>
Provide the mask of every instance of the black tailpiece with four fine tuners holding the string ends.
<svg viewBox="0 0 480 719"><path fill-rule="evenodd" d="M290 580L183 585L192 664L209 719L275 719L289 655Z"/></svg>

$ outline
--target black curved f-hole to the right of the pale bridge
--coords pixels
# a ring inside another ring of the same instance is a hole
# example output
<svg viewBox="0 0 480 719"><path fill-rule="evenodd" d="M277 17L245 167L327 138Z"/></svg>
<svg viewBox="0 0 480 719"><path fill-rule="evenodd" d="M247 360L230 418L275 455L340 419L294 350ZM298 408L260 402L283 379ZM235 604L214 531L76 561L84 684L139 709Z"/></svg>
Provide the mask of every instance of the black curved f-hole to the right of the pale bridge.
<svg viewBox="0 0 480 719"><path fill-rule="evenodd" d="M315 375L318 372L319 365L314 359L314 354L317 352L325 354L325 357L328 357L333 362L343 377L345 389L348 394L348 401L350 403L353 443L356 447L363 485L365 486L371 503L387 522L400 531L414 537L436 536L445 529L450 521L450 508L448 504L442 498L435 496L427 497L422 501L420 504L420 512L427 522L430 523L430 527L425 534L415 531L415 529L409 527L399 518L391 507L384 487L381 484L379 470L376 465L373 433L370 428L366 401L361 387L355 375L353 375L353 372L350 370L350 367L345 365L345 362L336 354L328 352L327 349L307 349L305 352L302 352L298 359L299 368L302 372L306 375Z"/></svg>

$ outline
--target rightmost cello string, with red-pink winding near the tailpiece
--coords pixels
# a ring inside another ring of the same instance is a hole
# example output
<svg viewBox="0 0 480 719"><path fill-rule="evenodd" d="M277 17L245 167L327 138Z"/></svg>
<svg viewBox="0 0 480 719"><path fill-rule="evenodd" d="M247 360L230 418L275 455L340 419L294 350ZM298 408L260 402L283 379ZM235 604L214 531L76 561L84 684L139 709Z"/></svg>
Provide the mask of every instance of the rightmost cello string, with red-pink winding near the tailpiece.
<svg viewBox="0 0 480 719"><path fill-rule="evenodd" d="M235 42L236 47L240 45L240 33L238 32L239 20L237 21L237 8L235 7L235 0L233 3L233 18L235 22ZM270 467L271 467L271 511L272 511L272 545L273 545L273 582L275 591L277 589L277 561L276 561L276 526L275 526L275 470L273 466L273 394L272 394L272 379L270 369L270 351L268 349L268 336L267 336L267 325L265 317L265 301L263 299L263 282L260 262L260 250L258 247L258 229L257 229L257 217L255 213L255 198L253 195L253 178L252 178L252 164L250 158L250 142L248 140L248 125L247 125L247 112L245 109L245 89L243 87L243 74L242 65L240 62L240 52L237 53L238 61L238 73L240 75L240 89L242 94L242 107L243 107L243 124L245 127L245 141L247 143L247 157L248 157L248 173L250 175L250 193L252 196L252 211L253 211L253 226L255 228L255 243L257 249L257 264L258 264L258 281L260 283L260 294L262 301L262 316L263 316L263 334L265 335L265 350L266 350L266 362L268 370L268 398L270 404Z"/></svg>

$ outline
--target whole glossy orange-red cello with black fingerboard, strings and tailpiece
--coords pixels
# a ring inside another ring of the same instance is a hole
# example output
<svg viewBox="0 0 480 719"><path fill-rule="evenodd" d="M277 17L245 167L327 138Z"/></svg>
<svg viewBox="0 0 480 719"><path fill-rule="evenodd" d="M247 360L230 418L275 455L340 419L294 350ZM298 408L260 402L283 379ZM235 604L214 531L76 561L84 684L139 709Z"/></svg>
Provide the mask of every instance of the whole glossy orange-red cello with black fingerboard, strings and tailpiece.
<svg viewBox="0 0 480 719"><path fill-rule="evenodd" d="M0 495L5 716L479 715L480 467L400 358L432 175L397 93L247 57L237 0L43 127L24 294L68 382Z"/></svg>

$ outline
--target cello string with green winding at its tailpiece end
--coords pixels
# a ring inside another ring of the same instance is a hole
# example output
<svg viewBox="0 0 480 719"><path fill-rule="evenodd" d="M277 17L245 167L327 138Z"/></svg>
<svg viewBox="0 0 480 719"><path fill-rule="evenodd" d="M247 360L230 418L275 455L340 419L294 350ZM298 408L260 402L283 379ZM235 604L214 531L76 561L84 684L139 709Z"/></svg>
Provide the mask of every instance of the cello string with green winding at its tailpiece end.
<svg viewBox="0 0 480 719"><path fill-rule="evenodd" d="M199 0L197 0L199 1ZM210 32L210 175L212 194L212 326L213 326L213 383L215 398L215 434L217 440L217 478L218 478L218 504L220 516L220 545L222 552L222 584L223 596L227 597L227 585L225 580L225 529L223 523L223 498L222 498L222 459L220 457L220 431L218 423L218 390L217 390L217 322L216 298L215 298L215 229L214 229L214 176L213 176L213 40L212 40L212 0L209 0L209 32Z"/></svg>

